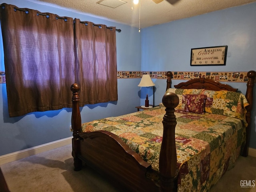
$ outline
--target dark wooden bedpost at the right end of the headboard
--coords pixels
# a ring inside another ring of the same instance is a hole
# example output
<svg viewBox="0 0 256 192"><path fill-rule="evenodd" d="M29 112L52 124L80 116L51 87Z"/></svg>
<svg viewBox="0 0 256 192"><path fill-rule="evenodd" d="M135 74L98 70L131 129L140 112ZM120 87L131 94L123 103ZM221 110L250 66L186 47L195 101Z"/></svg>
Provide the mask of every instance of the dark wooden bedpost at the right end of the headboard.
<svg viewBox="0 0 256 192"><path fill-rule="evenodd" d="M244 151L242 156L247 157L248 156L248 149L249 149L249 142L250 142L250 131L251 131L251 111L253 106L253 87L254 87L254 81L256 77L255 71L249 71L247 73L248 76L248 82L247 82L247 90L246 90L246 99L249 102L249 106L246 107L247 113L246 113L246 122L248 123L248 126L246 127L246 143L244 146Z"/></svg>

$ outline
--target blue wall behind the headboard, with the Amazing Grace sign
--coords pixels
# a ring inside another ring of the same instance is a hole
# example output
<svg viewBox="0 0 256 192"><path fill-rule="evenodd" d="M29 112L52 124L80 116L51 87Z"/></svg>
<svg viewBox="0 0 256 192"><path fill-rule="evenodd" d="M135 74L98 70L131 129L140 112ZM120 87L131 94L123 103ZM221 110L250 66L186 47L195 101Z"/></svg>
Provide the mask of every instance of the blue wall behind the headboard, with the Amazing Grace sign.
<svg viewBox="0 0 256 192"><path fill-rule="evenodd" d="M146 71L248 72L256 70L256 3L228 8L141 30L142 68ZM228 46L226 66L190 66L191 48ZM173 80L172 85L182 81ZM165 86L155 80L155 102ZM246 83L227 83L246 93ZM148 90L144 90L148 91ZM151 92L149 92L150 94ZM152 99L152 94L150 94ZM256 92L254 88L254 98ZM141 99L143 103L143 99ZM256 101L250 147L256 148Z"/></svg>

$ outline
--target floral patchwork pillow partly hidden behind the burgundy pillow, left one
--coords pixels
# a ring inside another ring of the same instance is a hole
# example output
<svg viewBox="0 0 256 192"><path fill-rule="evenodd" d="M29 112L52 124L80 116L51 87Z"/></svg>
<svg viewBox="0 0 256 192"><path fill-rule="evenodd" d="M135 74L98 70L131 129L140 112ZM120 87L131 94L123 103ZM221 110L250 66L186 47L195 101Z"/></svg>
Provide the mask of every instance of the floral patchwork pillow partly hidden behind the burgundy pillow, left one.
<svg viewBox="0 0 256 192"><path fill-rule="evenodd" d="M176 109L185 109L186 100L184 95L186 94L195 94L200 95L204 89L176 89L176 88L169 88L166 93L175 93L179 97L179 104Z"/></svg>

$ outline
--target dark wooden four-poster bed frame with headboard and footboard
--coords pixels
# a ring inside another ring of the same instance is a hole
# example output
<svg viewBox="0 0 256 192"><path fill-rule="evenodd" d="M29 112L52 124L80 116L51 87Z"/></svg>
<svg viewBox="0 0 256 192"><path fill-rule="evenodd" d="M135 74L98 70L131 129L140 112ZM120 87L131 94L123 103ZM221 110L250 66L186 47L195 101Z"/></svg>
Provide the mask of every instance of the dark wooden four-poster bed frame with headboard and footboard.
<svg viewBox="0 0 256 192"><path fill-rule="evenodd" d="M171 72L167 72L166 90L171 87ZM250 120L253 105L253 87L256 77L255 71L247 73L248 82L246 98L250 103L247 106L246 121L246 146L243 156L248 156L250 139ZM182 82L175 88L195 88L208 90L229 90L236 92L237 89L217 81L198 78ZM146 177L151 165L132 151L118 136L107 131L80 132L81 116L79 109L79 85L72 84L72 156L74 157L74 170L82 169L82 164L91 166L96 171L104 174L110 179L113 185L122 191L177 191L177 156L175 144L176 117L174 108L178 106L178 96L173 93L164 94L162 102L166 107L166 114L163 117L163 138L159 158L160 186L156 185Z"/></svg>

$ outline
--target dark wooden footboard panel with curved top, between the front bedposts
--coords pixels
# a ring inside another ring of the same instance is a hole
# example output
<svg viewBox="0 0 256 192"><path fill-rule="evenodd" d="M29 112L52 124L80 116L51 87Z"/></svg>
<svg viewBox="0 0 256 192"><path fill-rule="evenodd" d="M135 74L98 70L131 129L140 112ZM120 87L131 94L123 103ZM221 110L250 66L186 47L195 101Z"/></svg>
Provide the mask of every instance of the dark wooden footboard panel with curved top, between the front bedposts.
<svg viewBox="0 0 256 192"><path fill-rule="evenodd" d="M107 131L79 134L79 158L87 166L108 176L122 191L159 191L146 172L151 165L132 151L118 136Z"/></svg>

